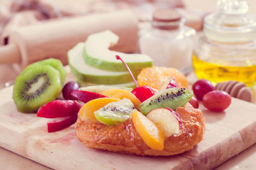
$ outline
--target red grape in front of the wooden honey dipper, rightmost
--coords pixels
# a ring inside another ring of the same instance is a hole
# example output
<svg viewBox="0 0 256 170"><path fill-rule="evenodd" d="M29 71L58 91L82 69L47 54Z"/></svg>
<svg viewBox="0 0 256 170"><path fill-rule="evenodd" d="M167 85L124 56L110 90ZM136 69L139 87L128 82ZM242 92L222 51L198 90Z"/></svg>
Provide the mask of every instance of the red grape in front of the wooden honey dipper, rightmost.
<svg viewBox="0 0 256 170"><path fill-rule="evenodd" d="M211 111L223 111L231 103L230 95L222 90L214 90L205 94L203 97L203 104L205 108Z"/></svg>

